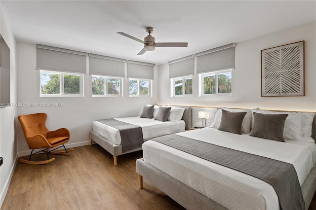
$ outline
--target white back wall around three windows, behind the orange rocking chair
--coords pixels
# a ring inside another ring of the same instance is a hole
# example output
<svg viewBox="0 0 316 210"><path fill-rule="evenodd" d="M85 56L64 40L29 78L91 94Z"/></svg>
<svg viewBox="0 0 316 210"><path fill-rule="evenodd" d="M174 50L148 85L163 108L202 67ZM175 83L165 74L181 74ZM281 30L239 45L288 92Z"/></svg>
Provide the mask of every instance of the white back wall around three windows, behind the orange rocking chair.
<svg viewBox="0 0 316 210"><path fill-rule="evenodd" d="M139 116L143 106L158 103L158 67L154 68L153 97L128 97L128 79L123 81L122 98L92 98L91 76L83 76L84 97L42 97L40 98L40 72L36 70L36 45L17 44L18 102L19 103L63 103L62 107L18 107L18 115L37 112L47 113L46 126L49 130L61 127L70 130L67 147L89 143L92 121L113 117ZM28 155L29 149L18 124L18 155Z"/></svg>

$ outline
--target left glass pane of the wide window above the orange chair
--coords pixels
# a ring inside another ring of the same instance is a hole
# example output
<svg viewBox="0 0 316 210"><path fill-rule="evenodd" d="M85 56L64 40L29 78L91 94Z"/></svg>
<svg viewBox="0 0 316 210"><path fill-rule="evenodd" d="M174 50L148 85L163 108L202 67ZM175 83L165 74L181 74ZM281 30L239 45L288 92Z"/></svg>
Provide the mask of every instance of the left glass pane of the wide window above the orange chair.
<svg viewBox="0 0 316 210"><path fill-rule="evenodd" d="M60 94L60 74L40 73L41 94Z"/></svg>

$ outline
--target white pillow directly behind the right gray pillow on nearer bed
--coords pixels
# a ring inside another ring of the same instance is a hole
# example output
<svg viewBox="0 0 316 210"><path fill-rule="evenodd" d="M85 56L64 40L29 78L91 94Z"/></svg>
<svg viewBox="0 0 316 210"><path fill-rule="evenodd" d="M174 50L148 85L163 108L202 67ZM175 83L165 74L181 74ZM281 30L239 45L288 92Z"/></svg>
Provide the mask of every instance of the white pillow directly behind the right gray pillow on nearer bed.
<svg viewBox="0 0 316 210"><path fill-rule="evenodd" d="M284 123L284 131L283 131L283 138L289 139L289 140L304 140L304 126L302 124L302 119L306 119L307 117L304 117L305 114L303 112L287 112L287 111L270 111L270 110L257 110L255 111L257 113L262 114L288 114L288 116L285 119ZM304 123L308 120L304 120ZM312 118L313 119L313 118ZM312 122L310 123L311 129L312 129ZM312 136L312 132L310 137Z"/></svg>

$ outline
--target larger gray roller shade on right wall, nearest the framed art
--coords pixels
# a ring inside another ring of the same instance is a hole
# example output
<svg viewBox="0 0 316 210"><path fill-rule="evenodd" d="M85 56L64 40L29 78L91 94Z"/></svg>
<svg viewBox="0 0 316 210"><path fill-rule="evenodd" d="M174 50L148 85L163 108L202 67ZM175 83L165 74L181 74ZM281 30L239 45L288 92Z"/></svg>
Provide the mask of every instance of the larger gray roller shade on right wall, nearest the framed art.
<svg viewBox="0 0 316 210"><path fill-rule="evenodd" d="M196 54L197 73L235 68L235 43Z"/></svg>

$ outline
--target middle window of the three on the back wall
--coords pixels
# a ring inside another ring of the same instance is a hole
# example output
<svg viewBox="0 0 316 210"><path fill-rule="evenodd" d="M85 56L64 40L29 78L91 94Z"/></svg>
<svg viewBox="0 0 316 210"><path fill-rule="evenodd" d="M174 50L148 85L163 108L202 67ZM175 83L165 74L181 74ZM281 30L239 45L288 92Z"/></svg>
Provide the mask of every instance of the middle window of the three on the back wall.
<svg viewBox="0 0 316 210"><path fill-rule="evenodd" d="M121 78L92 75L92 97L121 96Z"/></svg>

